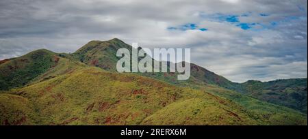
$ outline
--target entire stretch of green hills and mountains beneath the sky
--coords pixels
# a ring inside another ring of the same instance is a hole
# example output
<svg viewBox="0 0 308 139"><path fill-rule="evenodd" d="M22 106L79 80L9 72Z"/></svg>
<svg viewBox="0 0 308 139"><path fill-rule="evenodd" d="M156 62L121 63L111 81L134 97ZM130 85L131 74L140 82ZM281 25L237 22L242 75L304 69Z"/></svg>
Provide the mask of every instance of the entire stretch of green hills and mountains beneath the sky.
<svg viewBox="0 0 308 139"><path fill-rule="evenodd" d="M307 78L240 84L193 63L189 80L120 74L119 48L133 49L112 39L0 61L0 124L307 125Z"/></svg>

